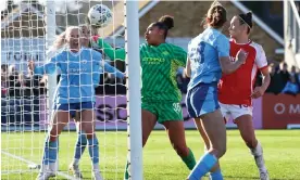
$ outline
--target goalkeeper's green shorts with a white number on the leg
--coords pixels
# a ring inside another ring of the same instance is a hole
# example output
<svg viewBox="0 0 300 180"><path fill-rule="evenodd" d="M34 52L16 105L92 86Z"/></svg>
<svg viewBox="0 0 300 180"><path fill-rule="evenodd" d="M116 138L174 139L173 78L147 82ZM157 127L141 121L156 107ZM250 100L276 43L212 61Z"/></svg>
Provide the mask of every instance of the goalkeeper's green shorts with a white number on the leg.
<svg viewBox="0 0 300 180"><path fill-rule="evenodd" d="M158 117L158 121L184 120L180 103L173 102L142 102L141 110L149 111Z"/></svg>

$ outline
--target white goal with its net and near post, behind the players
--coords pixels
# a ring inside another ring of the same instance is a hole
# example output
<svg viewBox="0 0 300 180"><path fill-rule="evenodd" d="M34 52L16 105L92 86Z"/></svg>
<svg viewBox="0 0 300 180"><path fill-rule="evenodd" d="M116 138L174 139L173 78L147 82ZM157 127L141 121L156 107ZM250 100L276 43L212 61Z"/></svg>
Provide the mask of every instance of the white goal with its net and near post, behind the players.
<svg viewBox="0 0 300 180"><path fill-rule="evenodd" d="M1 179L36 179L51 125L60 72L53 75L32 74L28 61L36 65L45 64L51 57L49 50L58 36L67 26L86 25L87 13L95 4L110 8L113 21L97 30L89 27L114 49L125 48L126 51L125 62L111 60L102 53L102 59L123 72L126 78L122 80L104 70L96 88L93 119L100 171L103 179L122 179L128 160L132 178L141 179L137 3L107 0L1 1ZM127 26L129 22L130 26ZM103 52L101 48L96 50ZM76 120L70 116L68 124L59 136L57 179L74 179L68 169L74 159L77 128ZM79 169L84 179L92 178L88 147L79 160Z"/></svg>

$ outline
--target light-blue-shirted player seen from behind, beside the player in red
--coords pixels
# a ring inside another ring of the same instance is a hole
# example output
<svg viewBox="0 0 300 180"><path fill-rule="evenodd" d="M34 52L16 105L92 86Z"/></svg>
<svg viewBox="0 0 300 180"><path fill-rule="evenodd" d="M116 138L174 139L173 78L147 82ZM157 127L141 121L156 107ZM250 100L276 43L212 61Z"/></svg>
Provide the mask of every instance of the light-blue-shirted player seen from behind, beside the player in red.
<svg viewBox="0 0 300 180"><path fill-rule="evenodd" d="M188 47L186 75L190 77L187 92L187 108L195 118L200 134L208 139L207 153L188 176L199 180L211 171L211 180L223 180L217 159L226 152L226 127L217 101L217 82L222 73L236 70L246 60L239 53L236 63L229 59L229 40L221 33L226 22L226 10L214 1L208 12L208 28L193 38Z"/></svg>

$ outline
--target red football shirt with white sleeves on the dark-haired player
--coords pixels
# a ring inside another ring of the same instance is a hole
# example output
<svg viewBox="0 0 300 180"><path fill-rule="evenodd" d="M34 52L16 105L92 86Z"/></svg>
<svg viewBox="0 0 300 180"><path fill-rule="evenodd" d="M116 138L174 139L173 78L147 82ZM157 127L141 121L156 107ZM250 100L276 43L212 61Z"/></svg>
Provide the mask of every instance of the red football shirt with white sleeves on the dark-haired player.
<svg viewBox="0 0 300 180"><path fill-rule="evenodd" d="M267 67L263 48L252 41L236 43L230 40L230 57L236 61L237 52L243 49L248 52L246 63L236 72L223 75L218 83L218 101L223 104L252 105L251 94L259 69Z"/></svg>

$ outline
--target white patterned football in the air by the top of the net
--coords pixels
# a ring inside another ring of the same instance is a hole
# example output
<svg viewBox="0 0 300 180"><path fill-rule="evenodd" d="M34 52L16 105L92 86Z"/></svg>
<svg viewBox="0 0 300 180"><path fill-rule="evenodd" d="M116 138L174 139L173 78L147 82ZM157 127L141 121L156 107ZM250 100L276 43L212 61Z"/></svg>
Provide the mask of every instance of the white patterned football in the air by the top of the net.
<svg viewBox="0 0 300 180"><path fill-rule="evenodd" d="M112 11L104 4L96 4L88 11L88 18L91 25L105 27L112 22Z"/></svg>

